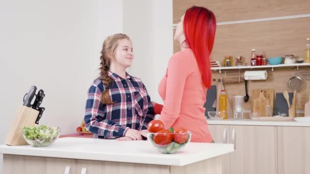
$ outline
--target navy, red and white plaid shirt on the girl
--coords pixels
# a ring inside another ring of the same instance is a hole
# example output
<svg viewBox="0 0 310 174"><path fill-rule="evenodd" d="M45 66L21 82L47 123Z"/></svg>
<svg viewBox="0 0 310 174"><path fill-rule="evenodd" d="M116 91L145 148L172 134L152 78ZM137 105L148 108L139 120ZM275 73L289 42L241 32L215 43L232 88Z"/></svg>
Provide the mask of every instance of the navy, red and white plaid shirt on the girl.
<svg viewBox="0 0 310 174"><path fill-rule="evenodd" d="M90 86L86 101L85 126L95 138L117 138L127 129L146 129L154 119L153 106L141 79L126 74L126 79L108 72L113 79L110 96L114 104L102 104L106 86L96 79Z"/></svg>

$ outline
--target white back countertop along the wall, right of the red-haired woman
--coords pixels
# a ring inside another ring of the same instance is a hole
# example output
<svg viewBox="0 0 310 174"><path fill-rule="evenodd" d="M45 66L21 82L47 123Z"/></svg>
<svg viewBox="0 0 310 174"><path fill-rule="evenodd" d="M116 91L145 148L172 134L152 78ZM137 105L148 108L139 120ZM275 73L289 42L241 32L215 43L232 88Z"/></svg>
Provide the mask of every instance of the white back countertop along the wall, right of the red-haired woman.
<svg viewBox="0 0 310 174"><path fill-rule="evenodd" d="M206 119L209 125L248 125L248 126L300 126L310 127L310 123L296 122L296 121L255 121L251 119L243 120L211 120Z"/></svg>

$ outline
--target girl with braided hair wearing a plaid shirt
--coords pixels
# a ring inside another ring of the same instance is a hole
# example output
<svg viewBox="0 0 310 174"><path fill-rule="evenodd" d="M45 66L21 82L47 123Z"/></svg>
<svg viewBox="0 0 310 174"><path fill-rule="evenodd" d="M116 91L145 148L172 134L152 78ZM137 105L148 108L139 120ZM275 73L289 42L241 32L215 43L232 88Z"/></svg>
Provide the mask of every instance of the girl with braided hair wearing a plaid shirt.
<svg viewBox="0 0 310 174"><path fill-rule="evenodd" d="M153 120L154 111L142 81L126 73L134 59L130 38L109 36L102 46L100 76L88 91L85 126L95 138L141 140L139 131Z"/></svg>

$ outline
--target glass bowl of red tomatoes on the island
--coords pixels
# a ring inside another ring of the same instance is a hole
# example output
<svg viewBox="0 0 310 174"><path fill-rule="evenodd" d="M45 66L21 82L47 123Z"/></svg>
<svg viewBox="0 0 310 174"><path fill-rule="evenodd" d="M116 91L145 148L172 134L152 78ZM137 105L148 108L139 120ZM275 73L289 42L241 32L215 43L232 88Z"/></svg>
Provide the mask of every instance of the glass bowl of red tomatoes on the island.
<svg viewBox="0 0 310 174"><path fill-rule="evenodd" d="M191 140L192 133L183 127L164 129L159 120L151 121L147 126L147 140L163 154L175 154Z"/></svg>

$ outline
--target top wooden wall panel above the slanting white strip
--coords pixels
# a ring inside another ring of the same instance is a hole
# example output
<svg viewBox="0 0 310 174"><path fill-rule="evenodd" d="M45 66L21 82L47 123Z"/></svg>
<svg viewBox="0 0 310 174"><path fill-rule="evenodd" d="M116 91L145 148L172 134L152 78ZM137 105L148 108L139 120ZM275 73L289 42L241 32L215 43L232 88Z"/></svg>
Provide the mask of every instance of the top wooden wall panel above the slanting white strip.
<svg viewBox="0 0 310 174"><path fill-rule="evenodd" d="M212 10L218 22L309 14L308 0L173 0L173 23L195 6Z"/></svg>

